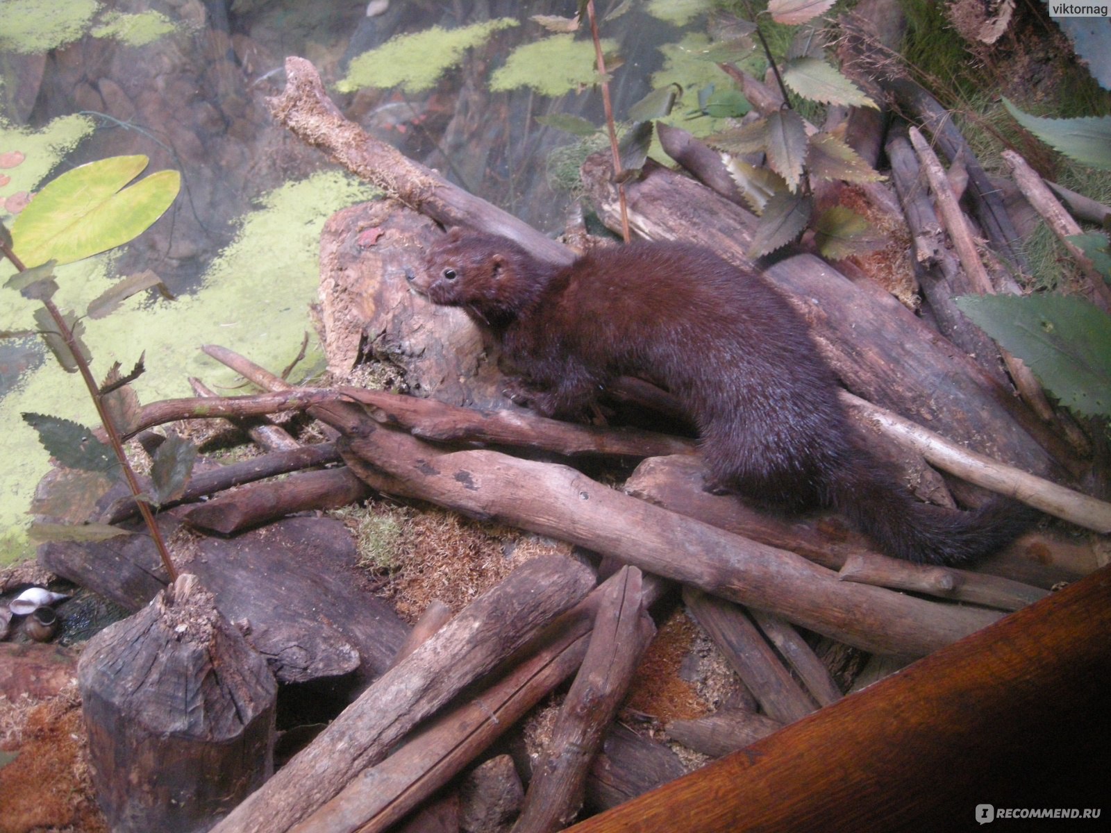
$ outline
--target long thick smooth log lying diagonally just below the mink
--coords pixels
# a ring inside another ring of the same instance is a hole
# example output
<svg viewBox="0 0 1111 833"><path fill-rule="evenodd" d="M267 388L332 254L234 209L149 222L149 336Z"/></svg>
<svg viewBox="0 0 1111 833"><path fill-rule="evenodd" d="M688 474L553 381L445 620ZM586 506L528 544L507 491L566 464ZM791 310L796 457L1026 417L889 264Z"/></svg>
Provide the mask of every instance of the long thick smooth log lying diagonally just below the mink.
<svg viewBox="0 0 1111 833"><path fill-rule="evenodd" d="M380 426L343 445L348 465L372 488L389 485L384 473L408 496L587 546L869 651L922 655L997 618L840 582L794 553L682 518L565 466L493 451L442 453ZM847 592L850 586L857 592Z"/></svg>

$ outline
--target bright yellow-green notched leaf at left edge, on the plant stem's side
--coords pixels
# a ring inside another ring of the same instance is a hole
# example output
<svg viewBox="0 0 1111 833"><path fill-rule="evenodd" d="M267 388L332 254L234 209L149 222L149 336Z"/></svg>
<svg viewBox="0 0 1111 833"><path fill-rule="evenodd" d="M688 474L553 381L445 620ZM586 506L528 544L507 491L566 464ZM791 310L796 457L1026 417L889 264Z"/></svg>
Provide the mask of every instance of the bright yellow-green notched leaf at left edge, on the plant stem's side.
<svg viewBox="0 0 1111 833"><path fill-rule="evenodd" d="M51 258L72 263L146 231L181 187L180 173L159 171L124 188L147 162L143 155L112 157L74 168L47 184L12 223L16 253L24 265Z"/></svg>

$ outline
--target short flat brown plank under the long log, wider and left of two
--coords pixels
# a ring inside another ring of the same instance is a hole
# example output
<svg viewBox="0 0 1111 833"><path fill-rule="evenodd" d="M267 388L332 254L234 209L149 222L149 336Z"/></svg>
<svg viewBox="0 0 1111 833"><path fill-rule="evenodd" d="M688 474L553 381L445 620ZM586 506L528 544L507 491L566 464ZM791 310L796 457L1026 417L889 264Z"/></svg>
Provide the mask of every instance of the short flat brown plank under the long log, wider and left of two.
<svg viewBox="0 0 1111 833"><path fill-rule="evenodd" d="M793 723L817 711L757 626L735 604L683 588L687 610L710 634L764 714Z"/></svg>

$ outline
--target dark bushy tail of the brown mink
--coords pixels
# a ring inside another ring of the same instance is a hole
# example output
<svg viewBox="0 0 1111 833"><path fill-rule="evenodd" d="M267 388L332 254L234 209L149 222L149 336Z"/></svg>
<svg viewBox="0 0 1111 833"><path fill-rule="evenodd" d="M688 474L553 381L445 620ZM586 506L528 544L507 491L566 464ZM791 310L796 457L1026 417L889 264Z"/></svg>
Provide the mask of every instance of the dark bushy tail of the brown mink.
<svg viewBox="0 0 1111 833"><path fill-rule="evenodd" d="M919 564L967 564L1005 546L1038 520L1037 510L1009 498L993 498L970 512L921 503L868 456L838 472L832 502L888 555Z"/></svg>

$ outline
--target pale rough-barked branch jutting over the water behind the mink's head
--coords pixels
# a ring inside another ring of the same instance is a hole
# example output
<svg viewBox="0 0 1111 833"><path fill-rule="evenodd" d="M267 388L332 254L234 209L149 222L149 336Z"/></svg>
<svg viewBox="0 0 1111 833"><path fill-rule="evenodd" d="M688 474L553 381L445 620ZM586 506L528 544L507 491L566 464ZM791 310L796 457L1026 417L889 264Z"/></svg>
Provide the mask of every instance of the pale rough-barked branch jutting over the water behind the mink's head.
<svg viewBox="0 0 1111 833"><path fill-rule="evenodd" d="M433 220L444 225L477 224L483 231L511 238L538 258L554 263L570 263L574 259L567 247L451 184L344 119L328 98L316 68L303 58L286 59L286 89L281 96L267 99L267 104L278 123L303 142L320 148L332 161Z"/></svg>

